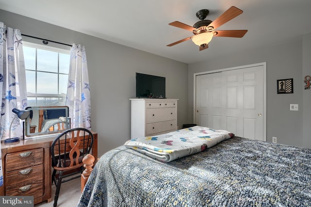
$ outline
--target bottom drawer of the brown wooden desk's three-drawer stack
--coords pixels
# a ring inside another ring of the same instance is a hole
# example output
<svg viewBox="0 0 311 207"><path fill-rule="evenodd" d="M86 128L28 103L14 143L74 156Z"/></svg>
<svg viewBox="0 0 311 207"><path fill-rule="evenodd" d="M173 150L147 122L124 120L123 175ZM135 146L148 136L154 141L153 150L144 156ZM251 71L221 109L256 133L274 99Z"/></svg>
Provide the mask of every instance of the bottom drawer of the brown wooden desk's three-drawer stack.
<svg viewBox="0 0 311 207"><path fill-rule="evenodd" d="M34 196L34 199L42 196L43 194L43 186L42 181L35 181L32 183L24 184L24 185L15 185L10 188L6 188L5 195L11 196Z"/></svg>

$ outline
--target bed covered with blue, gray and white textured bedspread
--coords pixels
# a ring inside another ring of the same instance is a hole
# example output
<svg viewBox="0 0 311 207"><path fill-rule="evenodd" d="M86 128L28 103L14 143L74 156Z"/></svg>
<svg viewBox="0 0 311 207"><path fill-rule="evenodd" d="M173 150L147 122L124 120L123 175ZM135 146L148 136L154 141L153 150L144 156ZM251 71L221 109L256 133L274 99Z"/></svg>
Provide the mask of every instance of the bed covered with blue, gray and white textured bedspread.
<svg viewBox="0 0 311 207"><path fill-rule="evenodd" d="M186 138L197 129L179 131ZM311 149L223 136L165 162L123 145L94 166L78 203L87 206L308 207Z"/></svg>

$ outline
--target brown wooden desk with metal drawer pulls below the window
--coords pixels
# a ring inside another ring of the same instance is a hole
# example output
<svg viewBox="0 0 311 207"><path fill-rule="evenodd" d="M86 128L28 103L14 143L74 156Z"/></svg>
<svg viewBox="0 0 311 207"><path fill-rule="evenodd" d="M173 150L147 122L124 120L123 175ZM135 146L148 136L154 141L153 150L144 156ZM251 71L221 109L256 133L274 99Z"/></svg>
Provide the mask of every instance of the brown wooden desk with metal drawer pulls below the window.
<svg viewBox="0 0 311 207"><path fill-rule="evenodd" d="M92 155L97 158L97 133ZM56 136L1 143L4 185L0 195L34 196L34 203L52 200L50 146Z"/></svg>

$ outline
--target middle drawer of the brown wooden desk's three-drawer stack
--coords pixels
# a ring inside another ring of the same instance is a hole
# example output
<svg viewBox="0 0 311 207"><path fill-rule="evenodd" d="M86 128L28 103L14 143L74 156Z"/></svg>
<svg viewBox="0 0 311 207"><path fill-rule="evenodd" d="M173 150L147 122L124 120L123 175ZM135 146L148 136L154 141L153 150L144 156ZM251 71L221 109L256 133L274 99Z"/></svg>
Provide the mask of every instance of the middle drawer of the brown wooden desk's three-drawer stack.
<svg viewBox="0 0 311 207"><path fill-rule="evenodd" d="M6 187L17 185L18 183L31 183L43 179L43 164L21 168L6 173Z"/></svg>

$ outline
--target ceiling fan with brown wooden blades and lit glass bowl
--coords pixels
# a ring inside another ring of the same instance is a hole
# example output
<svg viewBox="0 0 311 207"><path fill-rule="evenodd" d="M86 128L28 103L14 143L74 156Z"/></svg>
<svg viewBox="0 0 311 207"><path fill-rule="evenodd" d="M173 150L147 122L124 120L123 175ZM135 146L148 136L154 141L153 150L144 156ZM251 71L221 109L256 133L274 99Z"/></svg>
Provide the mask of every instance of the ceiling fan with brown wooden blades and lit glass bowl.
<svg viewBox="0 0 311 207"><path fill-rule="evenodd" d="M181 23L179 21L174 21L169 25L174 27L179 27L181 29L189 30L193 32L194 35L187 37L185 39L179 40L167 46L171 47L177 45L178 43L192 39L193 43L200 46L200 51L208 48L208 43L211 41L213 36L216 37L243 37L247 30L216 30L221 25L230 21L231 19L241 15L243 11L235 6L231 6L227 11L225 11L221 16L216 18L214 21L205 20L209 11L207 9L202 9L196 13L196 16L200 21L196 22L193 27Z"/></svg>

